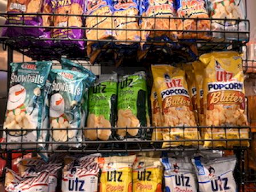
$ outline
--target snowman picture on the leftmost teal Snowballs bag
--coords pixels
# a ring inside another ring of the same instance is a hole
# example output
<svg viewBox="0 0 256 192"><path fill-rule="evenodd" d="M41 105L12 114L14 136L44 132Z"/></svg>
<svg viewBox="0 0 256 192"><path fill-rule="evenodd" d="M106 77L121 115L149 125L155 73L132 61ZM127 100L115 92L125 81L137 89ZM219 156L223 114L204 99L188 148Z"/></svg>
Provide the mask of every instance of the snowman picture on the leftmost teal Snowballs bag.
<svg viewBox="0 0 256 192"><path fill-rule="evenodd" d="M17 131L10 131L10 135L20 136L21 134L26 134L26 131L21 133L21 128L35 129L36 127L31 122L30 114L27 113L26 106L24 105L25 99L25 87L18 84L10 88L4 128L17 129Z"/></svg>

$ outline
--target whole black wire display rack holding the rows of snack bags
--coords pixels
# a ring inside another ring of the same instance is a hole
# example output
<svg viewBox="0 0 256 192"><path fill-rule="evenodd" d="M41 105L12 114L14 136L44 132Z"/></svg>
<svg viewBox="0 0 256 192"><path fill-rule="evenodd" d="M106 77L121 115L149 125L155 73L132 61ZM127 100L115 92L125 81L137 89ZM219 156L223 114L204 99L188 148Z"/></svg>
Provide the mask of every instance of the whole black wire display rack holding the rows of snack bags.
<svg viewBox="0 0 256 192"><path fill-rule="evenodd" d="M245 4L246 5L246 4ZM9 29L13 29L14 27L24 31L25 29L31 29L35 31L39 31L41 29L52 31L56 29L78 29L78 27L71 27L69 23L67 23L66 27L63 26L29 26L25 25L24 18L26 17L35 17L40 18L42 16L49 16L51 18L56 19L56 17L80 17L85 23L86 18L95 17L96 20L101 19L102 17L106 17L106 15L77 15L77 14L44 14L44 13L6 13L0 12L0 18L10 19L11 17L20 17L22 18L22 23L12 23L9 25L0 25L0 29L3 27L9 27ZM117 16L117 15L108 15L107 17L112 18L111 21L114 21L114 18L122 18L126 21L129 19L135 19L136 21L141 21L142 19L153 19L154 23L156 23L157 19L167 19L170 21L184 21L185 19L193 20L195 23L193 30L187 30L183 27L183 29L146 29L139 27L138 29L116 29L115 27L107 26L106 28L96 28L96 27L86 27L83 25L79 27L84 34L81 38L70 38L67 35L66 38L57 38L50 36L49 38L39 37L38 33L35 33L34 37L26 35L25 33L21 33L18 35L7 35L1 36L0 42L3 45L3 49L7 50L7 70L2 70L7 72L7 78L10 79L10 65L9 63L13 62L13 51L18 51L22 55L26 55L33 60L42 60L42 59L50 59L50 60L59 60L63 55L67 58L74 59L77 61L90 61L90 55L87 54L87 49L89 48L89 42L93 42L97 44L95 46L97 50L101 50L101 54L99 57L95 59L94 64L99 66L114 66L119 62L119 59L122 58L122 66L138 66L143 63L144 66L149 65L149 63L178 63L178 62L188 62L194 61L197 59L198 55L203 53L208 53L210 51L223 51L223 50L236 50L239 52L243 51L243 47L246 46L246 43L249 42L250 37L250 22L248 19L212 19L212 18L176 18L176 17L142 17L142 16ZM202 30L198 29L198 23L200 21L209 22L209 29ZM69 21L69 19L67 20ZM167 23L168 23L167 22ZM226 27L223 27L221 30L213 30L213 23L219 22L223 23L223 26L226 26L226 23L234 23L233 30L227 30ZM241 29L241 24L245 26L244 29ZM111 23L113 26L113 23ZM95 31L94 39L86 38L86 30ZM100 39L98 38L99 31L102 30L110 30L110 31L124 31L124 38L115 39L115 38L107 38ZM138 31L140 35L140 39L136 41L133 39L127 38L130 32ZM143 39L142 32L147 31L151 34L150 38ZM170 39L170 38L159 38L157 36L158 33L165 33L167 37L170 37L171 33L182 34L179 38ZM186 39L184 34L193 34L193 39ZM204 38L201 38L204 37ZM42 45L41 42L51 42L51 45ZM55 42L83 42L83 47L77 46L59 46ZM54 45L54 46L53 46ZM142 55L142 56L141 56ZM175 57L174 57L175 55ZM107 62L106 62L107 61ZM88 62L90 65L90 62ZM243 67L247 73L251 72L251 69L254 70L255 61L249 61L247 57L244 58ZM255 63L256 64L256 63ZM256 69L256 68L255 68ZM9 82L9 81L7 81ZM9 87L9 86L7 86ZM6 99L6 98L2 98ZM3 118L0 119L3 121ZM0 121L0 122L1 122ZM3 123L3 122L2 122ZM201 150L233 150L237 155L237 169L235 169L235 178L238 183L237 191L256 191L256 174L252 171L249 166L247 166L248 155L250 155L250 147L247 143L251 142L252 134L250 131L250 127L189 127L190 129L194 129L198 135L194 139L187 139L184 137L185 130L188 127L179 127L182 130L181 135L183 138L179 138L178 141L169 140L169 141L158 141L155 139L151 139L151 132L154 129L169 129L170 133L174 127L140 127L139 129L145 130L144 139L126 139L126 140L117 140L112 139L109 141L90 141L86 139L83 134L81 134L81 140L79 142L71 142L69 139L62 142L62 146L57 149L51 148L51 145L59 144L61 142L56 141L43 141L43 142L24 142L23 136L21 135L21 142L19 143L18 148L14 148L13 146L17 145L17 142L11 142L8 139L8 135L12 131L11 129L3 129L3 126L0 127L1 134L6 135L6 140L3 140L0 143L1 152L5 154L5 158L7 160L7 166L11 166L11 158L13 153L133 153L139 151L201 151ZM88 128L74 128L73 130L79 130L81 133ZM115 131L117 128L111 128L111 130ZM120 128L119 128L120 129ZM127 127L123 128L126 129ZM130 128L129 128L130 129ZM138 127L131 128L138 129ZM204 130L208 130L211 135L213 135L214 130L222 129L224 134L221 139L202 139L199 137L200 133L203 133ZM235 130L237 136L231 138L229 134L230 129ZM59 129L65 130L67 129ZM101 129L97 128L96 131ZM241 131L246 130L248 133L248 137L241 137ZM21 129L19 133L23 133L25 131L31 131L30 129ZM37 129L33 130L37 131ZM53 133L53 129L41 129L41 131L45 131L47 134ZM163 142L169 144L169 147L162 148ZM175 143L179 142L178 146L175 146ZM186 142L193 142L193 146L186 146ZM210 142L211 144L204 148L202 147L203 142ZM221 147L217 145L217 143L222 143ZM77 148L70 147L71 144L79 144ZM234 145L235 144L235 145ZM29 149L27 145L30 145ZM41 146L44 146L42 148Z"/></svg>

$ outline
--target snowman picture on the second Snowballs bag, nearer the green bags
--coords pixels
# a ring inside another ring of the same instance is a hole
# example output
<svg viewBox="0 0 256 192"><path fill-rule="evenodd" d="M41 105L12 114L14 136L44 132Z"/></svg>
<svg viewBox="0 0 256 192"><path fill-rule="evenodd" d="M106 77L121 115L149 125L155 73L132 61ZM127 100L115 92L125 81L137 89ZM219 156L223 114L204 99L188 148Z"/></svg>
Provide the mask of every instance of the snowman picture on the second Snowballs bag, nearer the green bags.
<svg viewBox="0 0 256 192"><path fill-rule="evenodd" d="M65 101L61 94L56 93L51 95L50 101L50 122L53 131L53 139L55 141L67 141L68 138L73 138L73 130L66 130L71 125L65 113ZM61 130L64 129L64 130Z"/></svg>

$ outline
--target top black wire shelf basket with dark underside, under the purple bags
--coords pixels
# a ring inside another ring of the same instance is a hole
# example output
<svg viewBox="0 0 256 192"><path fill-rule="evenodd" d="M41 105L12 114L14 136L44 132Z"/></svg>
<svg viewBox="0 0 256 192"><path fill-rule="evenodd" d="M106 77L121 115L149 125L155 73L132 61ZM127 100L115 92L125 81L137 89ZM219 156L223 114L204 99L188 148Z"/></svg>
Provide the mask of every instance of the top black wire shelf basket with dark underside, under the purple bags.
<svg viewBox="0 0 256 192"><path fill-rule="evenodd" d="M51 18L57 16L65 16L65 17L81 17L82 19L86 19L88 17L101 18L106 17L106 15L76 15L76 14L45 14L45 13L0 13L0 18L9 18L14 15L19 15L19 17L26 17L27 15L31 15L34 17L42 17L42 15L49 15ZM3 44L10 46L11 49L17 50L20 53L27 55L28 57L34 60L42 60L42 59L59 59L62 55L66 55L68 58L74 59L86 59L89 60L88 55L86 54L87 42L97 43L97 50L101 50L101 56L98 57L94 62L102 62L106 60L119 60L121 57L118 57L118 54L122 55L122 59L130 59L133 61L141 61L145 60L152 61L151 54L154 54L155 61L153 62L165 62L171 59L171 62L180 62L180 61L193 61L197 58L198 54L207 53L209 51L223 51L223 50L241 50L241 47L249 41L250 36L250 22L247 19L212 19L212 18L176 18L176 17L142 17L142 16L117 16L117 15L108 15L107 17L116 18L120 17L122 19L130 19L135 18L137 21L141 19L154 19L154 25L157 22L157 19L167 19L167 21L183 21L185 19L193 20L195 23L196 30L187 30L183 27L183 29L115 29L114 27L110 28L92 28L92 27L70 27L67 23L68 27L57 27L57 26L28 26L25 23L11 24L11 25L0 25L2 27L18 27L21 29L46 29L46 30L54 30L54 29L81 29L83 34L85 34L85 30L95 31L97 35L94 39L86 38L85 35L82 38L74 39L74 38L43 38L27 36L25 34L17 34L15 37L13 35L9 37L0 37L0 42ZM23 19L22 19L23 20ZM114 19L111 19L113 22ZM198 22L200 21L209 22L210 29L198 29ZM151 20L153 21L153 20ZM229 31L224 27L223 30L213 30L212 24L213 22L222 22L223 26L226 25L227 22L235 23L235 29ZM239 29L239 24L243 23L245 29ZM113 23L111 26L114 26ZM99 39L98 33L102 30L109 31L125 31L125 37L123 39ZM139 35L142 37L143 31L148 31L150 33L150 38L133 40L127 38L127 34L132 31L138 31ZM158 33L165 33L165 37L158 37ZM171 33L181 33L182 35L176 39L171 39ZM186 39L184 34L186 33L191 35L190 39ZM216 38L216 34L218 38ZM76 46L65 46L65 43L61 46L57 46L53 43L50 46L39 46L39 44L43 41L51 41L51 42L67 42L67 41L81 41L85 44L85 49L81 50ZM143 46L142 46L143 44ZM131 46L132 45L132 46ZM142 51L141 51L142 50ZM125 53L125 54L124 54ZM146 53L146 54L145 54ZM142 56L143 55L143 56ZM157 57L155 57L157 55ZM175 55L175 57L172 57ZM177 55L181 55L181 57L177 58ZM156 59L158 58L158 59ZM161 58L161 61L159 61ZM175 58L175 59L174 59Z"/></svg>

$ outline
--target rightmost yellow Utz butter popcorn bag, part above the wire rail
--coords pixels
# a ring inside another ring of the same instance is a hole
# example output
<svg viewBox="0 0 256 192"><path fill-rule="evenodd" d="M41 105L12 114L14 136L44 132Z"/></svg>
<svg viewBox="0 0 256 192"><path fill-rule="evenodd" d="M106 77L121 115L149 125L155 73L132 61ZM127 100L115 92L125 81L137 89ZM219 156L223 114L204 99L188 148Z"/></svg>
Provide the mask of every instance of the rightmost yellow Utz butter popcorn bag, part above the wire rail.
<svg viewBox="0 0 256 192"><path fill-rule="evenodd" d="M200 60L205 66L206 125L247 125L241 55L235 51L213 52L202 55ZM214 116L213 122L209 115Z"/></svg>

